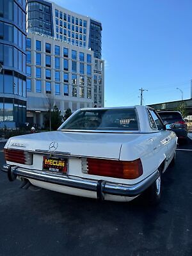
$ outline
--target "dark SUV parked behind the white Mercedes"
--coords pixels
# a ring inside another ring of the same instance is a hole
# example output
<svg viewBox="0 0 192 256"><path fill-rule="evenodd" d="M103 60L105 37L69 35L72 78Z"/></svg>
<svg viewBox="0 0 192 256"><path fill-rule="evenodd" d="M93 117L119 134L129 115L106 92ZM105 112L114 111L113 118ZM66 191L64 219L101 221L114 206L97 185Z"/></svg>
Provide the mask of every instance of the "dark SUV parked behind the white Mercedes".
<svg viewBox="0 0 192 256"><path fill-rule="evenodd" d="M165 125L170 124L170 128L176 133L179 139L188 138L188 125L179 111L158 111L157 112Z"/></svg>

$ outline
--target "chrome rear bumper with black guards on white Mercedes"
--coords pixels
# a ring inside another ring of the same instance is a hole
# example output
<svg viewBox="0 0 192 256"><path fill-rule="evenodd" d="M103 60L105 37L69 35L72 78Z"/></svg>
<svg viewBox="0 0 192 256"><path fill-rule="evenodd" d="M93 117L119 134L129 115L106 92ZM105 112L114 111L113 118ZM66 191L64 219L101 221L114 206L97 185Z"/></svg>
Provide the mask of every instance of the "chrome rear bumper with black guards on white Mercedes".
<svg viewBox="0 0 192 256"><path fill-rule="evenodd" d="M152 173L137 184L125 185L106 182L106 180L88 180L81 179L79 177L69 177L67 175L53 175L51 173L45 173L38 170L29 170L17 166L10 166L8 164L3 166L2 171L8 173L8 178L11 181L17 177L22 177L24 179L39 180L69 188L95 191L97 193L97 198L99 199L104 199L105 194L130 197L138 196L159 177L159 171L156 170L156 172Z"/></svg>

